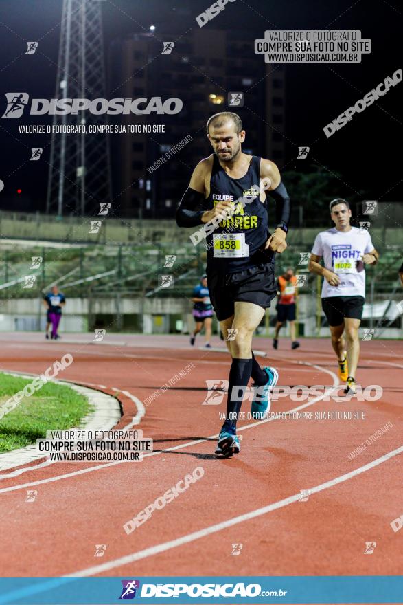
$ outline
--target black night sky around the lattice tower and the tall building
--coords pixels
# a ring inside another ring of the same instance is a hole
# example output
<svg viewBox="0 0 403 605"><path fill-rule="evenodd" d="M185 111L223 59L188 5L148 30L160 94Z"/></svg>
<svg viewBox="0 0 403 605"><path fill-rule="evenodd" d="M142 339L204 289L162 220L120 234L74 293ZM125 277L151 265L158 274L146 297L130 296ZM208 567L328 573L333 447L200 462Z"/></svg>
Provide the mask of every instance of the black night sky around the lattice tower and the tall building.
<svg viewBox="0 0 403 605"><path fill-rule="evenodd" d="M151 24L156 25L156 35L164 31L179 35L189 28L198 28L195 18L208 5L209 0L106 0L102 2L105 54L114 40L133 32L148 32ZM39 98L54 96L61 13L62 0L1 0L1 115L5 92L27 91L31 97ZM402 12L395 0L338 0L326 5L323 1L307 0L236 0L227 3L225 10L205 25L207 42L209 28L227 32L243 29L251 40L264 37L266 29L357 29L362 38L370 38L372 52L363 55L360 64L286 66L286 164L288 169L307 169L307 165L302 167L293 158L295 145L308 145L314 165L341 174L344 195L363 190L368 199L402 200L402 83L354 115L330 139L322 130L402 67ZM34 56L25 56L25 41L39 41ZM152 94L158 96L158 89ZM36 118L35 122L50 120ZM43 209L47 164L27 159L30 147L40 146L39 142L45 146L49 135L43 135L40 141L20 135L18 123L30 122L0 120L0 179L5 183L0 192L0 209L21 209L24 203L30 210ZM245 126L247 130L247 123ZM16 193L19 188L21 195ZM179 191L178 199L181 195ZM303 192L299 203L303 203Z"/></svg>

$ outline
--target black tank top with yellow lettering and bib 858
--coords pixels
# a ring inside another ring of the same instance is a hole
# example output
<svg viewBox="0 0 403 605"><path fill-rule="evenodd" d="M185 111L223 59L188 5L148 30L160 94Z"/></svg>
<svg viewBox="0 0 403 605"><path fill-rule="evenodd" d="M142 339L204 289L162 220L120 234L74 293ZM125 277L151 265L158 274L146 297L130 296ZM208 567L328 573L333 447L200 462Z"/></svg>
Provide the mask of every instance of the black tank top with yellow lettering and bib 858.
<svg viewBox="0 0 403 605"><path fill-rule="evenodd" d="M218 201L233 201L235 212L207 235L207 270L210 272L232 273L273 261L273 253L264 250L268 239L268 217L267 201L265 199L262 203L259 199L260 159L253 155L246 175L242 179L233 179L214 154L206 208L211 210ZM235 238L238 238L238 243L233 241ZM239 255L240 251L235 248L237 246L244 248L243 256ZM246 255L248 246L249 254Z"/></svg>

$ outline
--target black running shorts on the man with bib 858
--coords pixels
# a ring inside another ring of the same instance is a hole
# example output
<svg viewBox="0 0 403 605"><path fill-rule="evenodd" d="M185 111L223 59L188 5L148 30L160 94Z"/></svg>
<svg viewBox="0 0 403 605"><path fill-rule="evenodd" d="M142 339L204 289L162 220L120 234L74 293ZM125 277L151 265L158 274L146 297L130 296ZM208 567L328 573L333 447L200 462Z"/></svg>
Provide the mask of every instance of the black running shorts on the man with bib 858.
<svg viewBox="0 0 403 605"><path fill-rule="evenodd" d="M218 321L233 316L238 302L254 303L263 309L270 307L277 294L274 269L274 263L267 263L235 273L208 273L211 305Z"/></svg>

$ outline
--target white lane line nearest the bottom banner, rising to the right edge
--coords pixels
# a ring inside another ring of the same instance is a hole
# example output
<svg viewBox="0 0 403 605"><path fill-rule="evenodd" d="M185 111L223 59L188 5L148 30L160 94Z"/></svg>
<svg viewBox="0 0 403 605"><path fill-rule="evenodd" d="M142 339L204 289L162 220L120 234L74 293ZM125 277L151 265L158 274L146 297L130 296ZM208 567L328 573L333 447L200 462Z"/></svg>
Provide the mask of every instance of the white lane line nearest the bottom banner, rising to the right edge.
<svg viewBox="0 0 403 605"><path fill-rule="evenodd" d="M386 462L387 460L393 458L393 456L397 456L401 452L403 452L403 445L400 448L397 448L392 452L384 454L384 456L381 456L380 458L373 460L372 462L369 462L364 466L356 468L356 470L335 477L334 479L326 481L325 483L321 483L320 485L315 485L315 487L310 487L310 493L316 494L317 492L322 492L323 489L329 489L330 487L334 487L334 485L338 485L338 483L348 481L349 479L363 472L366 472L367 470L371 470L372 468L382 464L383 462ZM130 555L125 555L124 557L120 557L113 561L108 561L101 565L94 565L92 567L88 567L87 569L82 569L80 571L76 571L75 573L69 573L68 575L62 577L87 577L89 575L96 575L97 573L102 573L103 571L110 571L111 569L115 569L116 567L127 565L129 563L133 563L141 559L146 559L148 557L152 557L170 549L183 546L183 544L189 544L189 542L194 542L194 540L205 538L205 536L209 536L211 535L211 533L216 533L217 531L221 531L222 529L227 529L227 527L233 527L233 525L238 525L238 523L243 523L244 521L248 521L249 519L265 515L266 513L270 513L271 511L288 506L294 502L298 502L300 499L301 493L299 492L298 494L294 494L293 496L284 498L284 500L279 500L278 502L269 504L262 508L258 508L254 511L250 511L249 513L233 517L220 523L216 523L215 525L210 525L209 527L205 527L204 529L200 529L199 531L194 531L193 533L187 533L185 534L185 536L176 538L176 540L170 540L169 542L156 544L155 546L143 549L142 551L138 551L137 553L131 553Z"/></svg>

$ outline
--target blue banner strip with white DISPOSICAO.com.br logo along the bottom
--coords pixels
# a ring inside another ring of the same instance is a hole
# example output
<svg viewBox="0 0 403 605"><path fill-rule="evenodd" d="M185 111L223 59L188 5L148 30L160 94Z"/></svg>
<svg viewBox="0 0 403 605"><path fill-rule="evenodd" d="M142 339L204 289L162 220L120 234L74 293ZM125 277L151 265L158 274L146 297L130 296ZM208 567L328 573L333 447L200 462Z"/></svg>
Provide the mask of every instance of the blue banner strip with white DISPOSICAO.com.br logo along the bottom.
<svg viewBox="0 0 403 605"><path fill-rule="evenodd" d="M11 577L0 578L0 604L103 605L131 601L216 603L402 603L403 577Z"/></svg>

